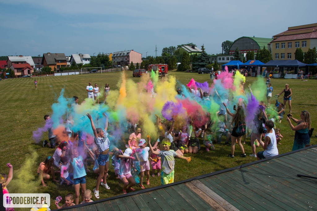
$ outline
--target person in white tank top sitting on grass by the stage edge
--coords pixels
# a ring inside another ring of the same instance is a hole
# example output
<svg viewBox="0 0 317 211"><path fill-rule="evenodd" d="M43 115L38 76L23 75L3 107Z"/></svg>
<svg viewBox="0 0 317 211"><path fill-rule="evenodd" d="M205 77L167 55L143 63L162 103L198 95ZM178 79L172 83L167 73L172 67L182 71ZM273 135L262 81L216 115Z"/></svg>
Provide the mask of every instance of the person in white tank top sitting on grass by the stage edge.
<svg viewBox="0 0 317 211"><path fill-rule="evenodd" d="M263 142L262 140L259 140L260 145L264 149L264 151L258 152L257 153L257 159L265 159L265 158L270 158L275 155L278 155L278 149L276 145L276 137L275 137L275 131L273 129L274 127L274 122L271 120L268 120L265 122L265 128L267 130L265 134L265 139Z"/></svg>

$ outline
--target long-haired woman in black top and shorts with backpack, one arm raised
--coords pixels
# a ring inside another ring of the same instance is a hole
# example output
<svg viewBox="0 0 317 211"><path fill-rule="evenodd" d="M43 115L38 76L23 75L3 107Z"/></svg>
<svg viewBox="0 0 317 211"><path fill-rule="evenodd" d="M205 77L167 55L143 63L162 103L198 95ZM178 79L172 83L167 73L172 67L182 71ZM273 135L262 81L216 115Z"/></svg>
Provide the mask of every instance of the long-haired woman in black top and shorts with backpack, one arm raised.
<svg viewBox="0 0 317 211"><path fill-rule="evenodd" d="M242 108L242 106L238 106L236 114L232 114L229 109L227 108L226 103L223 103L224 107L226 107L227 110L227 114L229 114L230 116L232 116L232 122L231 124L235 124L233 129L232 129L232 133L231 133L231 154L228 155L228 157L233 158L234 157L234 153L235 153L235 144L236 141L238 141L238 145L240 146L241 152L242 154L240 155L240 157L246 157L246 154L244 153L244 148L243 145L241 143L241 139L242 136L239 136L236 133L237 128L239 127L239 123L243 123L245 124L245 115L244 115L244 110Z"/></svg>

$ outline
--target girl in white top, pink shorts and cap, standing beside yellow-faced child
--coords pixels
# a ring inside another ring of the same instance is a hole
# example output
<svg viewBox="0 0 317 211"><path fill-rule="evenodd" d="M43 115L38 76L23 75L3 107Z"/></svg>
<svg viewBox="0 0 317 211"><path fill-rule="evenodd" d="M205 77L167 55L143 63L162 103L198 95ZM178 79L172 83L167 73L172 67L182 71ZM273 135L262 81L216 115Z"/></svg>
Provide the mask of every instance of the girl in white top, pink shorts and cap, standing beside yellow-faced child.
<svg viewBox="0 0 317 211"><path fill-rule="evenodd" d="M146 140L140 139L139 140L139 157L140 157L140 172L141 172L141 178L140 178L140 187L141 189L144 189L143 186L143 177L144 172L146 173L146 184L150 185L150 162L149 162L149 151L150 147L146 147Z"/></svg>

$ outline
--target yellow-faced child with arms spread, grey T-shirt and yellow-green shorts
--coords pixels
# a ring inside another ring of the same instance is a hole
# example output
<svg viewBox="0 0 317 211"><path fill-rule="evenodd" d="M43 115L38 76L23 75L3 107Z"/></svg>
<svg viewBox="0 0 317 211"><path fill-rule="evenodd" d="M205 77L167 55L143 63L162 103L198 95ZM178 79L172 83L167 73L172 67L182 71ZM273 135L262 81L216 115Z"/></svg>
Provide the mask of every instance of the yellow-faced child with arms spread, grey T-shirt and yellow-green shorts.
<svg viewBox="0 0 317 211"><path fill-rule="evenodd" d="M152 154L159 155L162 158L162 171L161 171L161 183L162 185L173 183L174 182L174 165L175 165L175 158L182 158L187 160L189 163L191 161L191 157L184 157L181 155L176 154L174 150L170 150L171 141L169 139L163 139L162 145L163 150L161 151L154 151L151 145L151 137L147 135L147 141L149 143L150 150Z"/></svg>

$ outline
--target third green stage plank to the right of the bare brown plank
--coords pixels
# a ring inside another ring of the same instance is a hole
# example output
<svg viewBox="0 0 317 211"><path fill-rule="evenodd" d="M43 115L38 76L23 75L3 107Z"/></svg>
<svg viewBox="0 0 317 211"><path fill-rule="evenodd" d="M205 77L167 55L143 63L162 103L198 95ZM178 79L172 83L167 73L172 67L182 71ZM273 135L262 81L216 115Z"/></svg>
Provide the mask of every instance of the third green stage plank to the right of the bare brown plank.
<svg viewBox="0 0 317 211"><path fill-rule="evenodd" d="M271 181L274 181L272 177L267 176L265 174L259 177L254 177L252 174L249 174L249 172L247 170L244 170L243 168L240 169L240 171L244 173L244 177L254 182L253 183L254 188L258 189L259 191L265 191L272 197L278 199L281 203L284 203L283 209L299 210L299 209L303 209L307 207L306 205L303 206L302 203L298 203L296 198L293 198L290 195L288 195L288 192L284 192L283 188L279 189L279 186L277 187L272 186L270 183ZM283 186L283 184L281 184L280 186ZM286 189L286 190L289 190L289 189ZM299 196L299 197L302 197L302 196Z"/></svg>

